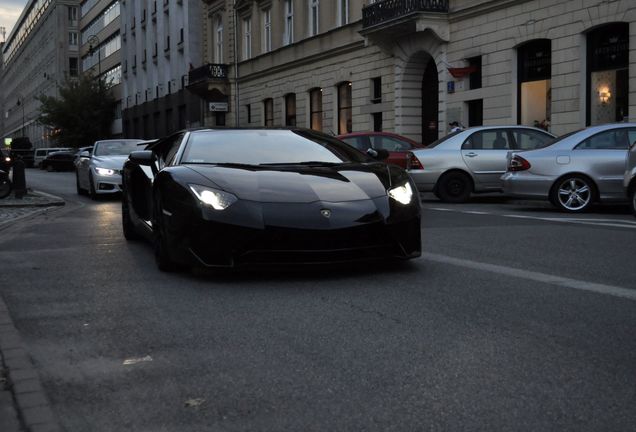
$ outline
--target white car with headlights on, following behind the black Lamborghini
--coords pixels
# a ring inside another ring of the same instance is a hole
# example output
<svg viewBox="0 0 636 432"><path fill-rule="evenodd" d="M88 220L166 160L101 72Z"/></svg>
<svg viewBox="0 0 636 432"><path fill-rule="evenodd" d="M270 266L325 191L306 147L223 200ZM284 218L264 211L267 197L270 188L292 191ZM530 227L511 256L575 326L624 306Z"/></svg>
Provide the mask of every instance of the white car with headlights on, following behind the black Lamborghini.
<svg viewBox="0 0 636 432"><path fill-rule="evenodd" d="M144 142L137 139L101 140L95 142L92 153L85 150L75 161L77 193L92 199L100 194L121 191L121 169L131 151Z"/></svg>

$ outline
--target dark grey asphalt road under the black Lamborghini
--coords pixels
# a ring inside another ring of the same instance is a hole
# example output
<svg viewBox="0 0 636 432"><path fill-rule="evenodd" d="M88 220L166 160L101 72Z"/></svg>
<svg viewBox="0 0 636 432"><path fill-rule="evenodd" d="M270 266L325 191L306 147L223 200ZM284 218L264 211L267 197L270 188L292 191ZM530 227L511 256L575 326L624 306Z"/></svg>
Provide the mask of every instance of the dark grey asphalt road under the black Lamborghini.
<svg viewBox="0 0 636 432"><path fill-rule="evenodd" d="M0 235L0 294L67 431L636 430L636 219L425 197L397 266L164 274L116 199Z"/></svg>

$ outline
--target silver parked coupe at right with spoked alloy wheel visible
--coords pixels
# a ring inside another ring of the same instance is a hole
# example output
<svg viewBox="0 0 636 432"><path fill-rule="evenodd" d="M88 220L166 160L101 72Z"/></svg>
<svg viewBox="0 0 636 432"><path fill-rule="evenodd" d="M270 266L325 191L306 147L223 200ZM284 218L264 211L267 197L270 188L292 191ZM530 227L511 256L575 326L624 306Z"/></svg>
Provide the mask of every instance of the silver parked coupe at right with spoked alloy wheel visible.
<svg viewBox="0 0 636 432"><path fill-rule="evenodd" d="M513 153L502 177L504 192L549 199L571 213L595 202L625 201L625 158L634 141L636 123L615 123L564 135L544 149Z"/></svg>

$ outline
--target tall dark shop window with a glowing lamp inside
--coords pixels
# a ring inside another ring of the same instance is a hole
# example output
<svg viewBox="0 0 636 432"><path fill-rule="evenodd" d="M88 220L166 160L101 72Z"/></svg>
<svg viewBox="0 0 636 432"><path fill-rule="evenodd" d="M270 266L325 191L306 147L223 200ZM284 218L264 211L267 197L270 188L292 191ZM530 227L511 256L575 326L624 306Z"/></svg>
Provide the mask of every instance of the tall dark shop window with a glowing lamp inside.
<svg viewBox="0 0 636 432"><path fill-rule="evenodd" d="M629 24L587 35L587 125L620 122L628 113Z"/></svg>

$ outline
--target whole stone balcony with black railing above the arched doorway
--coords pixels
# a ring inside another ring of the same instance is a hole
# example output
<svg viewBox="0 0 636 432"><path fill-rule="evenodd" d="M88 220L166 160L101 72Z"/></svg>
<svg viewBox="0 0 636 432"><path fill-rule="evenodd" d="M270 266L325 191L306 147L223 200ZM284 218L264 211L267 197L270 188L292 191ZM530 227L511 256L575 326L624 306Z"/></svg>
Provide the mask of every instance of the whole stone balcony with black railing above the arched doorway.
<svg viewBox="0 0 636 432"><path fill-rule="evenodd" d="M362 8L360 34L378 41L426 29L448 41L449 0L382 0Z"/></svg>

